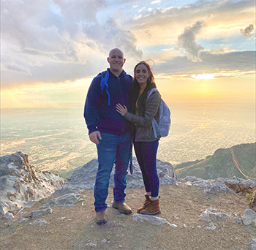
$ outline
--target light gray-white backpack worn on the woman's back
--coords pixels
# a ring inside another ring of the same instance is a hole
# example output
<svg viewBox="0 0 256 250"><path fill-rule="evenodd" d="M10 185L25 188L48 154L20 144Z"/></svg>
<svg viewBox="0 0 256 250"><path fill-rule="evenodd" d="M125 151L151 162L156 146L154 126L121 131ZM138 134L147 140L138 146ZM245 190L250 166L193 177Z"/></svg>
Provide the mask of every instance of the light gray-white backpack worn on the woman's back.
<svg viewBox="0 0 256 250"><path fill-rule="evenodd" d="M157 88L151 88L151 90L148 91L147 99L154 91L159 93ZM170 130L170 110L162 98L159 105L159 118L157 120L154 118L152 121L154 137L157 138L157 135L161 137L167 136Z"/></svg>

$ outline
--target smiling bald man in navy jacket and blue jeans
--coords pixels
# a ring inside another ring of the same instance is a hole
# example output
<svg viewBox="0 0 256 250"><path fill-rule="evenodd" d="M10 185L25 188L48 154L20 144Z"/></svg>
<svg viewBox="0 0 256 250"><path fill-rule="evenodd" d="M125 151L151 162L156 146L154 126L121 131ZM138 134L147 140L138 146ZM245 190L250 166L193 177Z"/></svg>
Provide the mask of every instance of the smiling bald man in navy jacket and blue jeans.
<svg viewBox="0 0 256 250"><path fill-rule="evenodd" d="M101 91L102 76L99 74L91 82L84 108L84 118L89 129L91 142L97 145L98 171L94 186L94 207L97 224L107 222L105 210L108 186L113 164L116 163L113 187L113 208L120 213L132 213L124 203L127 186L127 167L131 149L130 124L116 112L116 105L122 103L129 107L129 91L132 77L124 72L124 53L115 48L107 58L110 68L108 87ZM103 73L103 76L105 75Z"/></svg>

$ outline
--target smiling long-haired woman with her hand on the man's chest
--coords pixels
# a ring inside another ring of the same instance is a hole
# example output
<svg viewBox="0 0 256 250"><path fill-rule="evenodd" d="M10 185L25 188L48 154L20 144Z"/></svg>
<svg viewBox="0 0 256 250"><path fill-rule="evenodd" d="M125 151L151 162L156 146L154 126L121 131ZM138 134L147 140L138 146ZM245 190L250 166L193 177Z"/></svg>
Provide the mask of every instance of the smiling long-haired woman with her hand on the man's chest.
<svg viewBox="0 0 256 250"><path fill-rule="evenodd" d="M154 137L151 121L159 113L161 97L158 91L148 96L151 88L157 88L154 75L145 61L140 61L134 69L132 83L131 113L118 103L116 111L133 124L133 144L140 164L146 189L146 200L138 208L138 213L157 215L159 207L159 178L157 175L157 148L159 136ZM148 98L147 98L148 97Z"/></svg>

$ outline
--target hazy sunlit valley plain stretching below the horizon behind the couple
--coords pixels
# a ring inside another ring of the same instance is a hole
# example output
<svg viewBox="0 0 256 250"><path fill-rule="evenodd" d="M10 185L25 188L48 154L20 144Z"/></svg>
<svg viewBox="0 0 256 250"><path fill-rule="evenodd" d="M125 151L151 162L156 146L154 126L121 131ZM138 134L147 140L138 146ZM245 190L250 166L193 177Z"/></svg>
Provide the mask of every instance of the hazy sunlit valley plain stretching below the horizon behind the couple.
<svg viewBox="0 0 256 250"><path fill-rule="evenodd" d="M168 104L170 134L159 143L157 159L171 164L213 155L218 148L255 143L254 105ZM37 170L64 177L97 157L78 108L1 110L1 156L22 151ZM135 156L135 154L134 154Z"/></svg>

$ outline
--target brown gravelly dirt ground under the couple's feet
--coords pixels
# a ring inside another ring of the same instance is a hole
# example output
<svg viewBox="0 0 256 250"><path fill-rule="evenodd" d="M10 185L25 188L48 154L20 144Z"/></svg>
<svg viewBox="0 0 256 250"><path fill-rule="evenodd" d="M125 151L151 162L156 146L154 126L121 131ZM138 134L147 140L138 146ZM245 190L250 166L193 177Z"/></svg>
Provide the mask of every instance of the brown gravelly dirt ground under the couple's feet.
<svg viewBox="0 0 256 250"><path fill-rule="evenodd" d="M2 250L80 250L80 249L172 249L172 250L212 250L246 249L244 244L256 238L256 229L238 224L235 213L244 215L248 201L238 194L204 194L203 189L179 183L160 186L159 217L178 227L168 224L154 225L148 221L132 221L132 215L142 205L143 189L127 189L126 202L133 213L121 215L111 208L113 192L110 188L107 203L108 223L98 226L94 221L93 190L81 194L83 201L75 207L51 207L53 213L29 221L19 222L31 211L39 210L42 204L56 198L40 200L32 208L15 213L12 220L0 218ZM213 223L199 221L206 208L216 208L227 213L232 219L219 219ZM44 219L48 224L33 226L31 222ZM215 230L206 227L215 225Z"/></svg>

